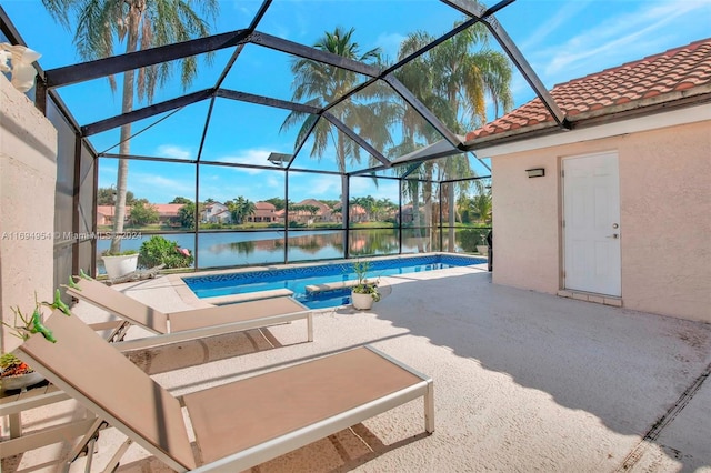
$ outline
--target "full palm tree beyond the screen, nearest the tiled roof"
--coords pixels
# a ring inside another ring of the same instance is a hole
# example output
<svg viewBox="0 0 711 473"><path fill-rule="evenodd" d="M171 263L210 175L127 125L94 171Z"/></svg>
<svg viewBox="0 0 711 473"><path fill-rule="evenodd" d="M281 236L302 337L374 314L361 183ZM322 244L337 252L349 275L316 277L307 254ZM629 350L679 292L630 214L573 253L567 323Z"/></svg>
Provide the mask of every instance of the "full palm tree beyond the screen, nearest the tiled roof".
<svg viewBox="0 0 711 473"><path fill-rule="evenodd" d="M485 123L487 98L495 113L499 108L503 111L512 108L511 64L504 54L488 48L489 36L483 24L475 23L395 71L395 77L454 133L463 134ZM399 58L405 58L432 41L434 38L425 32L411 33L400 44ZM402 113L401 120L403 142L398 147L400 151L409 152L441 139L410 110ZM424 180L421 185L424 202L431 202L435 172L438 180L463 172L474 174L464 155L427 161L418 172L415 177ZM420 192L420 185L412 183L405 191L415 205L418 197L413 192ZM419 215L417 209L414 214ZM424 218L425 225L430 225L429 205Z"/></svg>

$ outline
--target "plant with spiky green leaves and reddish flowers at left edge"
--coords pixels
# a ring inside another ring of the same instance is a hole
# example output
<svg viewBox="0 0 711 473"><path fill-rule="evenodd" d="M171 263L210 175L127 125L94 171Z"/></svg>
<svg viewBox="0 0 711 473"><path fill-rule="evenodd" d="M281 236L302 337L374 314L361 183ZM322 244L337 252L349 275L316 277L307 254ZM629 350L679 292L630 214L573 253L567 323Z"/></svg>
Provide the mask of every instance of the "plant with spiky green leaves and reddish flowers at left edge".
<svg viewBox="0 0 711 473"><path fill-rule="evenodd" d="M2 324L10 329L10 333L22 341L30 338L32 333L41 333L44 339L54 343L57 340L52 332L42 324L42 306L47 305L51 309L59 309L66 315L71 315L69 306L61 300L59 289L54 292L53 302L38 302L34 296L34 311L32 315L22 313L19 306L11 308L14 313L13 324L2 321ZM22 390L43 381L44 378L34 371L12 353L2 353L0 355L0 389L2 390Z"/></svg>

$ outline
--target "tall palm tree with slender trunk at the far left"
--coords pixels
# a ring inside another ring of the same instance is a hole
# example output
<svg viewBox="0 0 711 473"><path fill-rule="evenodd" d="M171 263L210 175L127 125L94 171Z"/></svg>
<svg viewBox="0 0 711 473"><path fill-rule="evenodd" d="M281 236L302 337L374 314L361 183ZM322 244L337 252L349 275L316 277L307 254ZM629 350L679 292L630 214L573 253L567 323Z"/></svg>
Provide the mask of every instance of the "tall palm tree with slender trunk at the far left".
<svg viewBox="0 0 711 473"><path fill-rule="evenodd" d="M74 44L84 61L114 54L114 42L126 41L124 52L134 52L164 44L187 41L210 34L208 23L193 10L200 7L202 14L213 20L219 11L218 0L42 0L50 14L70 29L69 14L77 21ZM180 61L181 81L188 87L197 74L196 57ZM171 76L169 63L130 70L123 73L122 113L133 110L133 95L149 103L157 84L163 84ZM138 76L138 77L137 77ZM109 78L116 91L116 79ZM119 153L130 153L131 124L121 127ZM126 218L126 194L129 164L120 159L117 177L117 200L111 252L119 252Z"/></svg>

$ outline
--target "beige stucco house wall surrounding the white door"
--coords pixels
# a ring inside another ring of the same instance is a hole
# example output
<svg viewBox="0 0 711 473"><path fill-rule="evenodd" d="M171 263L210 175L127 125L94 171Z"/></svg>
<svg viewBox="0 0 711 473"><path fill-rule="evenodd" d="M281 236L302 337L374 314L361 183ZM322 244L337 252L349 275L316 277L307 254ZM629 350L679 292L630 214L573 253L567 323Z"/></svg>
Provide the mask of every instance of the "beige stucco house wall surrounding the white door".
<svg viewBox="0 0 711 473"><path fill-rule="evenodd" d="M623 306L711 322L710 121L492 158L493 281L563 289L561 160L603 151L620 162Z"/></svg>

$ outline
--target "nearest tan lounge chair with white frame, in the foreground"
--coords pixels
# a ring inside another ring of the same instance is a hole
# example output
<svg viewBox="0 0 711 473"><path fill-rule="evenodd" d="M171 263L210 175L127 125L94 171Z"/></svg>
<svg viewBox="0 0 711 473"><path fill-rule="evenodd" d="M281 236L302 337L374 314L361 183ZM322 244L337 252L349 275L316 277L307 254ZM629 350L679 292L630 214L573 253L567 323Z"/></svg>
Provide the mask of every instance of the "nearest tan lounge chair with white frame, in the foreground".
<svg viewBox="0 0 711 473"><path fill-rule="evenodd" d="M434 431L432 380L372 348L174 397L77 316L46 326L57 343L34 334L19 355L127 435L107 471L133 441L179 472L238 472L420 396Z"/></svg>

